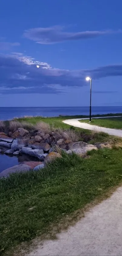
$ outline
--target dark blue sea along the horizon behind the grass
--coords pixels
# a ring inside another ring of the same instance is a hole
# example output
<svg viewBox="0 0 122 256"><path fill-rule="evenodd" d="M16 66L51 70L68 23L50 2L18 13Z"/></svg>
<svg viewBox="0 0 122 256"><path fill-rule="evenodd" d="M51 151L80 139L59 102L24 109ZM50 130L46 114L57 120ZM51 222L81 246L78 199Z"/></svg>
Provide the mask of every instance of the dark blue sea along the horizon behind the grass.
<svg viewBox="0 0 122 256"><path fill-rule="evenodd" d="M92 107L92 114L122 113L121 107ZM0 107L0 120L14 117L89 115L89 107Z"/></svg>

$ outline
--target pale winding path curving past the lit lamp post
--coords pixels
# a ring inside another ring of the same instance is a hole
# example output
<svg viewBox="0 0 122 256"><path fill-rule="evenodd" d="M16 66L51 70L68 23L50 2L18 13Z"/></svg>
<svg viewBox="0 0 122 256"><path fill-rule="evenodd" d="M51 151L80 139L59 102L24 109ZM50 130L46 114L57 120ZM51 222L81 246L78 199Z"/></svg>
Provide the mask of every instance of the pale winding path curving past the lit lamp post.
<svg viewBox="0 0 122 256"><path fill-rule="evenodd" d="M118 117L118 116L113 116L113 117ZM122 117L122 116L119 116ZM108 117L94 117L94 118L108 118ZM118 137L122 137L122 130L119 129L111 129L111 128L105 128L105 127L100 127L97 125L91 125L87 123L80 123L79 120L87 120L89 118L75 118L75 119L68 119L64 120L63 123L69 124L75 127L87 129L87 130L94 130L97 132L106 132L109 135L115 135Z"/></svg>

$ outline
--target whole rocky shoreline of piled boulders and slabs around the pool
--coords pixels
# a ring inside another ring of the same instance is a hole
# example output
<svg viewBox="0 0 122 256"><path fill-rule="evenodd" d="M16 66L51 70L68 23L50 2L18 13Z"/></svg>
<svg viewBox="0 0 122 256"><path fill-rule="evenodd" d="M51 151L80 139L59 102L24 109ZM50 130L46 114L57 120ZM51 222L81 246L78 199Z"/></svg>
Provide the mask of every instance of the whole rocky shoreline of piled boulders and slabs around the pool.
<svg viewBox="0 0 122 256"><path fill-rule="evenodd" d="M8 168L0 173L0 177L8 176L12 172L38 170L46 167L48 162L51 162L55 157L61 157L61 154L55 152L55 146L67 153L75 152L84 155L89 150L97 150L98 148L108 147L111 145L106 143L95 143L95 145L87 144L82 141L71 141L67 132L52 131L44 132L28 131L24 128L18 128L14 132L0 132L0 153L19 155L25 153L29 156L38 158L38 162L30 161L23 162L11 168ZM2 147L6 150L2 150Z"/></svg>

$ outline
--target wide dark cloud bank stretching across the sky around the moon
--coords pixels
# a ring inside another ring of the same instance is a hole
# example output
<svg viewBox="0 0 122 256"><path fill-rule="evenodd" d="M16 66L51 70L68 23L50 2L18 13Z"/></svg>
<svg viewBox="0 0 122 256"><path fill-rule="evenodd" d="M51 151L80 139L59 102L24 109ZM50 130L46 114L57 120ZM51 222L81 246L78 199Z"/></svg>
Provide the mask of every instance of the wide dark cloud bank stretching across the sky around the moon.
<svg viewBox="0 0 122 256"><path fill-rule="evenodd" d="M37 63L39 68L36 67ZM99 79L122 76L122 65L98 67L92 70L65 70L36 61L21 53L0 55L0 93L67 93L70 88L87 86L86 76ZM68 89L69 88L69 89ZM108 93L94 91L94 93ZM109 93L112 93L109 92Z"/></svg>

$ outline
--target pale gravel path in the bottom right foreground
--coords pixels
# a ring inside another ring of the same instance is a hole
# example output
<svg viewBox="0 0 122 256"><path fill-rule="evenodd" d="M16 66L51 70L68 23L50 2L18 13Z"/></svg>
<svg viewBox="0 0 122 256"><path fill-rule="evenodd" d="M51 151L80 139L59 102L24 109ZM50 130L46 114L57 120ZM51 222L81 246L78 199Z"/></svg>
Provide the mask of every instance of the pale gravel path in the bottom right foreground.
<svg viewBox="0 0 122 256"><path fill-rule="evenodd" d="M122 255L122 187L57 238L28 255Z"/></svg>

